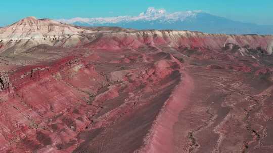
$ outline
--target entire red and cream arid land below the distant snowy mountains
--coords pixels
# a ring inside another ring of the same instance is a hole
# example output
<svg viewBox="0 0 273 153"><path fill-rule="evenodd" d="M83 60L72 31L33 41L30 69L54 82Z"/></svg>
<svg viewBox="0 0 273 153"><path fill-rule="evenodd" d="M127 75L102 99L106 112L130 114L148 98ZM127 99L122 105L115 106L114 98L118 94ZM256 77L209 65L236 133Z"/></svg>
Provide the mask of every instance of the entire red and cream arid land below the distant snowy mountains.
<svg viewBox="0 0 273 153"><path fill-rule="evenodd" d="M0 152L273 152L273 36L0 28Z"/></svg>

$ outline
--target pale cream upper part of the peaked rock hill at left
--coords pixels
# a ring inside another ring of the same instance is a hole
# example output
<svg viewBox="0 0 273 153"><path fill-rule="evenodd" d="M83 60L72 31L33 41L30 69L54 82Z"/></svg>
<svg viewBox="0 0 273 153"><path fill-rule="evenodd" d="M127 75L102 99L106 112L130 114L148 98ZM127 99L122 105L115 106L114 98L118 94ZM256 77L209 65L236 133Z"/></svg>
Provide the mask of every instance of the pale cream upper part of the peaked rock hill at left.
<svg viewBox="0 0 273 153"><path fill-rule="evenodd" d="M93 32L76 28L71 25L61 24L50 19L24 18L8 27L0 29L0 39L3 41L22 39L54 39L66 35L79 35Z"/></svg>

